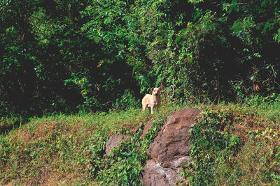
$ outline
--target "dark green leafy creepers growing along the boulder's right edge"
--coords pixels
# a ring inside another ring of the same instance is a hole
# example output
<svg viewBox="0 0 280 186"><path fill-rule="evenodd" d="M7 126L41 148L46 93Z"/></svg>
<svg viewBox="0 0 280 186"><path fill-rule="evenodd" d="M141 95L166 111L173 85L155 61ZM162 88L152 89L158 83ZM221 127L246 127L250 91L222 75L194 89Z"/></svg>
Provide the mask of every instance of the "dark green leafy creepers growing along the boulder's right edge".
<svg viewBox="0 0 280 186"><path fill-rule="evenodd" d="M241 140L226 132L225 127L230 127L232 122L226 112L209 109L201 115L190 129L192 171L185 168L184 173L192 185L215 185L219 164L230 162Z"/></svg>

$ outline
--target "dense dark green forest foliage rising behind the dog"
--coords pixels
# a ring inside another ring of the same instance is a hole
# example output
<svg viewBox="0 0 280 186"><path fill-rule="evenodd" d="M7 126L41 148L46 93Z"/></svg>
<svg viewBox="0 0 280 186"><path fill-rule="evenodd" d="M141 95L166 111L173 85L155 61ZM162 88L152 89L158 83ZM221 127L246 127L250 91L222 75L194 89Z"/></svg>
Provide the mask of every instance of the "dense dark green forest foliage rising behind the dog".
<svg viewBox="0 0 280 186"><path fill-rule="evenodd" d="M279 93L280 2L2 0L0 114Z"/></svg>

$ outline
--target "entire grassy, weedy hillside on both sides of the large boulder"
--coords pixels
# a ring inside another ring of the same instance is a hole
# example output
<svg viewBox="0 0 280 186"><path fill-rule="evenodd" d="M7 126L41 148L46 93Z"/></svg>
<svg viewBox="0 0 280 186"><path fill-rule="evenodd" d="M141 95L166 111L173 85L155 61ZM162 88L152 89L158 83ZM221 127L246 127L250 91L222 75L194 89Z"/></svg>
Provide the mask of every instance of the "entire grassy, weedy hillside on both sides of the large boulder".
<svg viewBox="0 0 280 186"><path fill-rule="evenodd" d="M194 161L184 169L181 183L280 184L278 98L188 106L204 112L192 131ZM138 185L146 149L165 116L184 107L164 104L153 116L130 108L30 118L0 136L0 184ZM132 134L148 121L155 122L145 139L139 138L141 130ZM104 146L112 134L127 134L127 139L106 156Z"/></svg>

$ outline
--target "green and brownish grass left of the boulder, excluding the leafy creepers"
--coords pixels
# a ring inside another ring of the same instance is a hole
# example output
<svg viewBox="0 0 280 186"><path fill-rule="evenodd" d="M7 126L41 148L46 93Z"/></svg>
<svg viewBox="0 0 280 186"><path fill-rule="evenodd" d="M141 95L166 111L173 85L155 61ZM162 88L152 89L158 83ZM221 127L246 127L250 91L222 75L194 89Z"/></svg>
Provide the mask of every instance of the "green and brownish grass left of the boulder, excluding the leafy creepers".
<svg viewBox="0 0 280 186"><path fill-rule="evenodd" d="M0 183L90 184L92 145L112 134L131 134L134 127L180 107L165 106L153 116L127 111L53 115L0 136Z"/></svg>

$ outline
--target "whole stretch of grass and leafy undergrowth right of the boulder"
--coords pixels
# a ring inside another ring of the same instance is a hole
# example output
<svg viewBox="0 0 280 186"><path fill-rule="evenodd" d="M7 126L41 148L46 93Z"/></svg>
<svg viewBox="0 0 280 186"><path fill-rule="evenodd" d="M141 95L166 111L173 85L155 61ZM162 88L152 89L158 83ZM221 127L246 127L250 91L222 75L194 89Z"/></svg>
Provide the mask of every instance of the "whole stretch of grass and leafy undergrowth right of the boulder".
<svg viewBox="0 0 280 186"><path fill-rule="evenodd" d="M279 97L204 105L190 130L186 185L279 185Z"/></svg>

